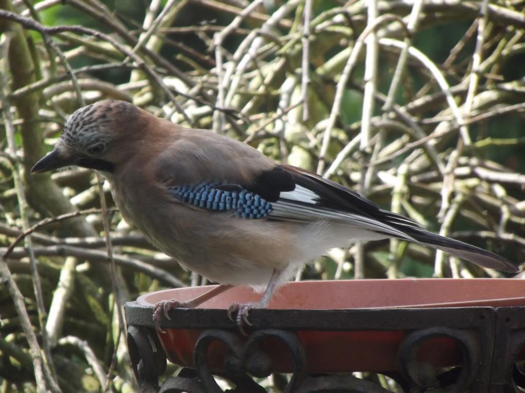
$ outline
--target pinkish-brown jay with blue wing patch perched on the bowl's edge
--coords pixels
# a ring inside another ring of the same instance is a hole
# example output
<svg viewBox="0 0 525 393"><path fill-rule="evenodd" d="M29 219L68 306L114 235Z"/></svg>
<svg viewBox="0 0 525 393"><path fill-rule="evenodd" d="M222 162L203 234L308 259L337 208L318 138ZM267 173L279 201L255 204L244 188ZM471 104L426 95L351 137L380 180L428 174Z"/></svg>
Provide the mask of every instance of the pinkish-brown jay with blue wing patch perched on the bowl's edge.
<svg viewBox="0 0 525 393"><path fill-rule="evenodd" d="M507 259L427 231L343 185L278 163L241 141L184 128L131 103L103 100L69 118L54 149L31 173L93 169L110 184L123 219L184 268L219 285L194 299L154 305L162 314L192 308L234 286L260 300L227 310L240 329L268 306L298 269L334 247L397 238L486 268L517 272Z"/></svg>

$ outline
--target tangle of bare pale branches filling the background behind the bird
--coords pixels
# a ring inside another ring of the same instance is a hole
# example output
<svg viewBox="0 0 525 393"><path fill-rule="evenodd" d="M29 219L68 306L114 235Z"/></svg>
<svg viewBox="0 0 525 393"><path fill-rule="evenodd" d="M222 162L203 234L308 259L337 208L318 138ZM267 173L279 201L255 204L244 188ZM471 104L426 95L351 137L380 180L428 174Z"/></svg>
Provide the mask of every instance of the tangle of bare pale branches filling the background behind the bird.
<svg viewBox="0 0 525 393"><path fill-rule="evenodd" d="M367 3L384 18L375 28ZM437 0L418 10L420 3L0 0L1 391L136 389L109 279L95 174L71 168L28 175L82 101L128 100L178 124L245 140L433 231L520 263L523 2ZM248 16L235 22L250 6ZM307 47L306 7L311 7ZM236 26L226 31L232 23ZM349 57L367 26L375 34L345 80ZM409 52L401 61L404 45L426 60ZM374 50L377 60L366 61ZM400 83L389 92L398 64ZM367 71L373 76L365 80ZM436 82L436 73L449 88ZM384 105L387 95L393 104ZM370 105L363 111L366 100ZM363 125L370 130L364 144ZM107 184L103 190L111 208ZM118 212L108 215L117 304L148 291L206 283L159 255ZM38 225L57 216L61 219ZM35 224L25 244L6 255L15 238ZM501 274L393 240L332 250L297 279L413 276ZM15 284L22 297L17 298ZM14 299L23 302L15 307ZM35 355L40 350L44 362ZM172 365L167 374L175 369ZM394 385L388 388L395 391Z"/></svg>

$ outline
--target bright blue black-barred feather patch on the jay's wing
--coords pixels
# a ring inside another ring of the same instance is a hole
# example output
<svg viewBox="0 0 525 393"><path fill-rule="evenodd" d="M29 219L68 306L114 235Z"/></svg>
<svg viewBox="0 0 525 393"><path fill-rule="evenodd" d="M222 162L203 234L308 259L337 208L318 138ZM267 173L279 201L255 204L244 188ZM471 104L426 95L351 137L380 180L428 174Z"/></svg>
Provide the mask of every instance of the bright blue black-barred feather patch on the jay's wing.
<svg viewBox="0 0 525 393"><path fill-rule="evenodd" d="M234 211L243 219L262 219L272 211L270 202L236 184L176 185L168 190L182 202L217 212Z"/></svg>

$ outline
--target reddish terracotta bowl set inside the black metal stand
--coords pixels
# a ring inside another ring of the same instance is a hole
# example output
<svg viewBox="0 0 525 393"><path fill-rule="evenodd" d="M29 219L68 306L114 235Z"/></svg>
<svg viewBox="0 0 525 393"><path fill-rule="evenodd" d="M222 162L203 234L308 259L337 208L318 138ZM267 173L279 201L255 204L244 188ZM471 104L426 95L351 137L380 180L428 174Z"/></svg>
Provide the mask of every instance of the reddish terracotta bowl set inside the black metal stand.
<svg viewBox="0 0 525 393"><path fill-rule="evenodd" d="M184 301L210 288L213 287L179 288L146 293L137 299L137 303L151 306L163 299L176 298ZM256 301L259 298L260 294L254 293L248 287L236 287L203 303L200 308L226 310L233 302ZM397 279L290 282L279 288L272 298L269 309L373 310L497 308L523 305L525 305L525 280L521 279ZM289 314L288 312L285 315ZM221 317L222 315L220 313ZM213 324L209 326L209 328L213 327ZM159 334L166 355L172 363L193 367L193 348L201 329L202 327L190 329L184 326L184 329L167 329L165 334ZM291 329L295 330L304 346L310 373L395 370L398 368L397 350L406 332L402 329L335 331L342 330L341 327L333 331L326 328ZM239 337L245 339L240 334ZM225 345L217 344L209 348L208 359L213 369L220 370L228 349ZM276 340L269 340L267 343L261 343L261 350L267 352L272 359L274 371L293 370L292 359L287 355L288 350L284 345ZM461 353L457 345L453 340L445 337L438 337L428 342L424 352L426 355L423 354L422 357L432 357L436 366L451 366L461 362Z"/></svg>

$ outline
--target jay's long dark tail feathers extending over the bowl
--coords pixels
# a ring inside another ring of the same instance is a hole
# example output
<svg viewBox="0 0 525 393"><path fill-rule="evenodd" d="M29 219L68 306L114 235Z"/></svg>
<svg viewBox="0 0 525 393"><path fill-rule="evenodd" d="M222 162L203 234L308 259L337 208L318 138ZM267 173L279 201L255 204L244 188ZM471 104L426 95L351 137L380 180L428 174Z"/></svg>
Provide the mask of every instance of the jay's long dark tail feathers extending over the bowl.
<svg viewBox="0 0 525 393"><path fill-rule="evenodd" d="M418 228L404 227L403 232L421 244L442 250L450 255L468 260L479 266L509 271L512 273L519 271L519 268L510 263L507 259L482 248L450 239L448 237L436 235Z"/></svg>

